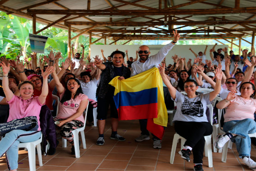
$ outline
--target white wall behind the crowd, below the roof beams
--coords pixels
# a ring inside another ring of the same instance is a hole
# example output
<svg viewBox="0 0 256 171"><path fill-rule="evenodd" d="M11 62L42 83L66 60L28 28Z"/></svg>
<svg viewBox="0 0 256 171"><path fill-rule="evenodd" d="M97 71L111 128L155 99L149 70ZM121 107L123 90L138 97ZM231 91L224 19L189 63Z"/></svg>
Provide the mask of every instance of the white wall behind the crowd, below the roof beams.
<svg viewBox="0 0 256 171"><path fill-rule="evenodd" d="M102 59L101 55L101 49L104 50L104 56L107 58L113 51L116 49L125 52L125 50L128 50L128 56L129 57L136 57L136 50L141 45L91 45L91 58L94 58L95 55L99 55ZM161 49L161 47L164 47L164 45L147 45L150 48L150 55L154 55L158 53L158 51ZM210 60L210 49L213 48L214 45L209 45L206 51L206 59ZM192 59L192 62L194 61L194 54L189 50L189 48L198 54L200 51L203 53L205 49L205 45L175 45L171 51L167 54L166 63L173 64L173 59L171 58L174 54L177 54L178 56L181 56L182 58L186 58L186 62L189 58ZM215 50L217 51L218 48L224 48L228 45L217 45L215 47ZM157 50L153 50L152 48L158 48ZM229 51L229 50L228 50ZM224 54L224 52L222 52ZM126 60L126 59L125 59Z"/></svg>

